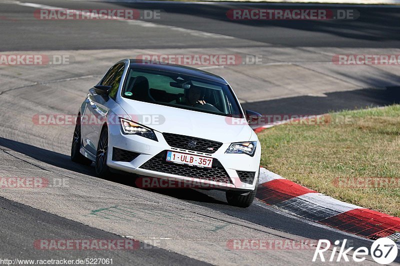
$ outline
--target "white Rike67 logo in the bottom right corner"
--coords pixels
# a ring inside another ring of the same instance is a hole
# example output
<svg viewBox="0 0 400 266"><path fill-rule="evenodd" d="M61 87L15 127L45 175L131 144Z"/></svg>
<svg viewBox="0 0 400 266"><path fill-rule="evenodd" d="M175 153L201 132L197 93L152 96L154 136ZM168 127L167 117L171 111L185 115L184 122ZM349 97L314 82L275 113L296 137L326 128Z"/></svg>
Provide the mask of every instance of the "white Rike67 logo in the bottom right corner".
<svg viewBox="0 0 400 266"><path fill-rule="evenodd" d="M343 259L345 262L349 262L349 259L347 257L348 253L354 249L353 247L350 247L346 249L346 242L347 240L343 240L340 249L337 253L337 258L335 260L336 256L336 251L337 247L332 248L332 253L330 256L328 254L328 258L326 258L326 261L328 262L340 262L341 259ZM339 245L340 241L336 240L334 242L334 245L337 246ZM317 261L319 259L321 262L325 262L325 257L324 257L324 252L328 251L330 248L330 242L328 240L320 239L318 241L318 244L315 249L314 257L312 258L312 262ZM372 259L382 265L387 265L389 263L392 263L396 257L397 257L397 246L392 241L391 239L388 238L379 238L375 240L372 245L370 250L368 250L365 247L359 247L358 249L354 250L352 256L348 255L353 262L363 262L368 254L371 255ZM319 255L319 256L318 256Z"/></svg>

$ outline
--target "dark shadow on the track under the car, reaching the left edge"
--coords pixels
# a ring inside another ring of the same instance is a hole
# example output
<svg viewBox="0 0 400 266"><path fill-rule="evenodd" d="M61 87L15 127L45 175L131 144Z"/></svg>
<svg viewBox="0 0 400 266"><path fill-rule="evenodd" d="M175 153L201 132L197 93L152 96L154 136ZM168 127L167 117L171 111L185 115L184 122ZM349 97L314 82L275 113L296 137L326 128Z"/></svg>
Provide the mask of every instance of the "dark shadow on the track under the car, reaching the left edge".
<svg viewBox="0 0 400 266"><path fill-rule="evenodd" d="M35 160L41 161L46 164L50 164L55 167L59 167L72 172L85 174L91 177L96 177L93 166L84 166L74 162L71 162L69 156L58 152L39 148L30 144L22 143L19 141L6 139L0 137L0 146L29 156ZM93 165L93 164L92 164ZM104 178L105 180L115 182L121 185L137 187L132 180L132 175L129 174L112 174L111 176ZM162 194L165 196L173 197L179 200L193 201L193 202L204 202L204 203L215 203L215 204L227 204L226 202L219 201L210 197L204 193L190 188L182 189L144 189L153 193Z"/></svg>

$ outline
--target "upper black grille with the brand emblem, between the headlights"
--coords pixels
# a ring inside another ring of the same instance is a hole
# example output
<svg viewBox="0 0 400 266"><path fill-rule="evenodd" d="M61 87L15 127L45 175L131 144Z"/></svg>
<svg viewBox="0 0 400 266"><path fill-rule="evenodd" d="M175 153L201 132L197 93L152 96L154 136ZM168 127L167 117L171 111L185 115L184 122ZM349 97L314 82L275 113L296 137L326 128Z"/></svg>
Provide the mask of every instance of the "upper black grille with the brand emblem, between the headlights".
<svg viewBox="0 0 400 266"><path fill-rule="evenodd" d="M221 142L183 136L171 133L162 133L169 146L196 152L214 153L222 146Z"/></svg>

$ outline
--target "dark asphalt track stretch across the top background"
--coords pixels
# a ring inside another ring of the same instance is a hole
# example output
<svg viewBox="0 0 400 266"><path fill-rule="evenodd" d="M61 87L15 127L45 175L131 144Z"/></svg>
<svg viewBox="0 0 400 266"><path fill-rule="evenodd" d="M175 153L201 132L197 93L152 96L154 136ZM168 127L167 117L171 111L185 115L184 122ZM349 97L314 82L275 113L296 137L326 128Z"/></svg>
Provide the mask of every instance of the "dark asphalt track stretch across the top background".
<svg viewBox="0 0 400 266"><path fill-rule="evenodd" d="M159 25L181 27L208 33L232 36L193 38L184 31L164 28L135 27L104 21L39 20L32 16L34 8L1 4L0 40L2 51L62 50L105 48L176 48L225 46L335 46L335 47L399 47L397 8L361 6L307 6L320 9L356 9L360 16L354 20L230 20L229 9L299 8L296 5L249 4L179 4L140 2L88 2L32 0L48 6L69 9L147 9L160 10L160 19L147 19ZM4 18L5 16L5 18ZM22 23L18 23L21 21ZM183 33L183 34L180 34ZM227 45L228 44L228 45Z"/></svg>

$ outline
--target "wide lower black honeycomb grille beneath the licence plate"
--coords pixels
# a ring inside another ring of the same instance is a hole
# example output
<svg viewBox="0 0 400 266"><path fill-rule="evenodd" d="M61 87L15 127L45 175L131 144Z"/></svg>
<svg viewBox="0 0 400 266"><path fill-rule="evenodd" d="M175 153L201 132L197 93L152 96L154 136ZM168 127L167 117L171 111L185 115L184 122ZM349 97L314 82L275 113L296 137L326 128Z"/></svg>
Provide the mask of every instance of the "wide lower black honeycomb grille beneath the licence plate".
<svg viewBox="0 0 400 266"><path fill-rule="evenodd" d="M156 171L165 174L198 178L208 181L231 184L231 180L225 169L217 159L212 160L211 168L196 167L190 165L181 165L165 161L166 151L160 152L139 168Z"/></svg>

